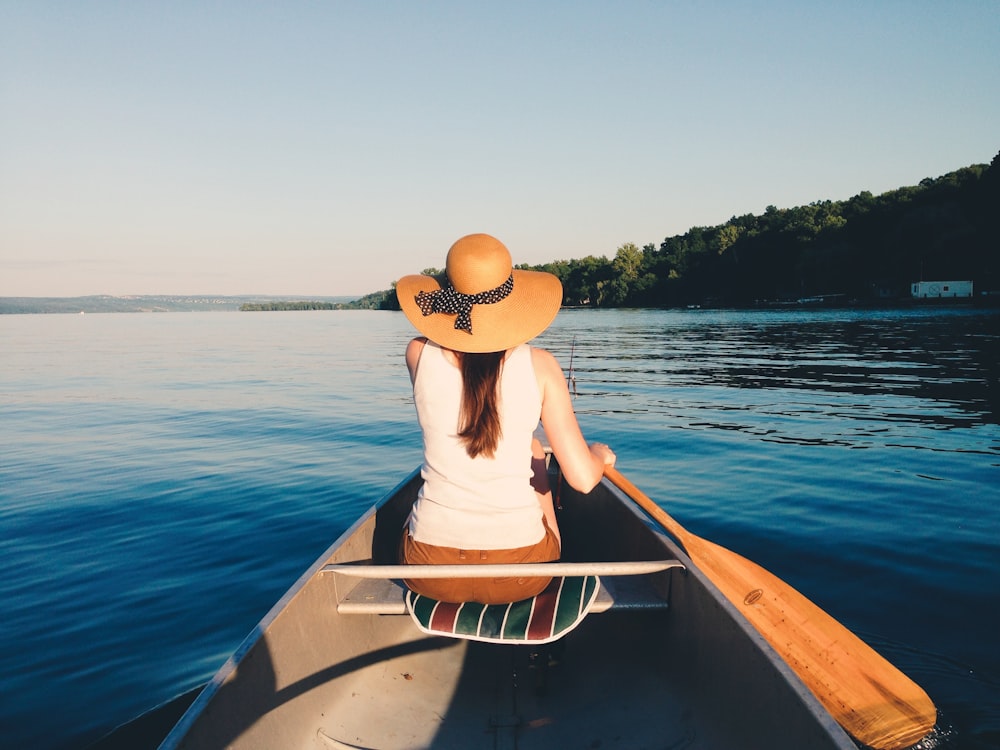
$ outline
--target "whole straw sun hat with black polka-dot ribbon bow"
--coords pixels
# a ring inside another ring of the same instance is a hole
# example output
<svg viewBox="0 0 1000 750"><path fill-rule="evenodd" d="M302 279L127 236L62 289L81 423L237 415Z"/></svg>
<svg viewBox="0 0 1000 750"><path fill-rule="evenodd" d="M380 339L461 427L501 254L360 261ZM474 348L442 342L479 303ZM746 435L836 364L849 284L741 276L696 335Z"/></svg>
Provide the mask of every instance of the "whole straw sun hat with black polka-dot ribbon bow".
<svg viewBox="0 0 1000 750"><path fill-rule="evenodd" d="M562 284L550 273L515 270L510 252L488 234L462 237L448 251L447 283L404 276L396 297L413 326L459 352L499 352L529 341L562 304Z"/></svg>

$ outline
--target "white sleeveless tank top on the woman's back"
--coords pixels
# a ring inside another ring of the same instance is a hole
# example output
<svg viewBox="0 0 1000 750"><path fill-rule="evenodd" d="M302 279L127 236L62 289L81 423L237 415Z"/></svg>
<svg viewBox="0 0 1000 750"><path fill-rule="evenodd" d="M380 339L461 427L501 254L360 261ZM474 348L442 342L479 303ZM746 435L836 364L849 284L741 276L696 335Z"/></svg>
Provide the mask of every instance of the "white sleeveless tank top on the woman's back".
<svg viewBox="0 0 1000 750"><path fill-rule="evenodd" d="M424 438L424 485L410 513L418 542L459 549L511 549L544 537L531 478L531 438L542 399L527 344L514 349L500 375L503 434L493 458L470 458L458 437L462 373L428 341L413 381Z"/></svg>

